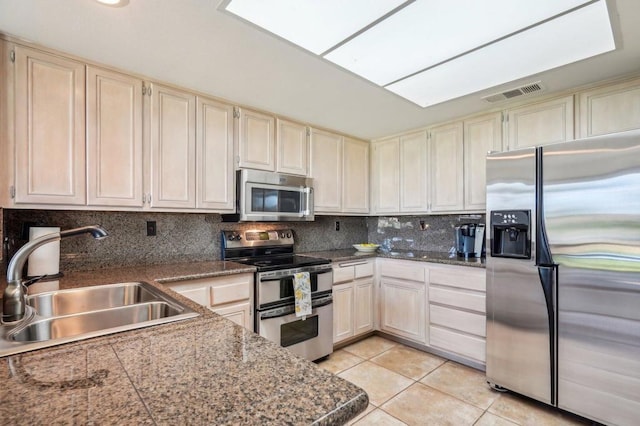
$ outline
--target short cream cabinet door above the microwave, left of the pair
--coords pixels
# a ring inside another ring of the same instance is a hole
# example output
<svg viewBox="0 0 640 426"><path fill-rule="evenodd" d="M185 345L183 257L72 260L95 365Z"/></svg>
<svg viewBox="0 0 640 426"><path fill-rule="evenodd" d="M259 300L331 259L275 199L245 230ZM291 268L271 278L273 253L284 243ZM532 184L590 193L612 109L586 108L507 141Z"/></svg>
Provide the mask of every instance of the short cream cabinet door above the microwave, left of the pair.
<svg viewBox="0 0 640 426"><path fill-rule="evenodd" d="M239 167L275 171L275 118L251 110L240 110L238 132Z"/></svg>

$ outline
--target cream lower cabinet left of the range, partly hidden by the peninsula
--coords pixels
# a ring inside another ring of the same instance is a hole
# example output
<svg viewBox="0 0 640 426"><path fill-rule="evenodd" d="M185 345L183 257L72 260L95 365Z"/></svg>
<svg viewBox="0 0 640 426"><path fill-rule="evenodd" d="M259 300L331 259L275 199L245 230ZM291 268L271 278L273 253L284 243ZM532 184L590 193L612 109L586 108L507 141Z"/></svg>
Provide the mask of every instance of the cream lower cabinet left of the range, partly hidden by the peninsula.
<svg viewBox="0 0 640 426"><path fill-rule="evenodd" d="M180 281L167 287L253 331L253 274Z"/></svg>

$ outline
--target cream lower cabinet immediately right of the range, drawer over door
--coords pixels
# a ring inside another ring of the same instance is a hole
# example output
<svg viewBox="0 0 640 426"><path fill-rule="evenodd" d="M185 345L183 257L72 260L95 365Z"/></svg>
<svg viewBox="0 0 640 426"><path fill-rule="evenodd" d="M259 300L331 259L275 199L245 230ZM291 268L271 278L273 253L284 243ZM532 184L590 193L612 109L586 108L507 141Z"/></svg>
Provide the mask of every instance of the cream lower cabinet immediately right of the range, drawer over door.
<svg viewBox="0 0 640 426"><path fill-rule="evenodd" d="M374 329L374 259L333 264L333 343Z"/></svg>

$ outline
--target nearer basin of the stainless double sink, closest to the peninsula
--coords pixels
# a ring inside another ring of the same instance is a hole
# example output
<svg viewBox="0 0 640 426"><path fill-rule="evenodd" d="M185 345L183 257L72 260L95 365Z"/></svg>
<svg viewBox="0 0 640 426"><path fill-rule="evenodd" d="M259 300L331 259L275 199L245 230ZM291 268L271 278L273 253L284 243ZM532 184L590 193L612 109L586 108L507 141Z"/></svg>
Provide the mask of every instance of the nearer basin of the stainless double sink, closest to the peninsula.
<svg viewBox="0 0 640 426"><path fill-rule="evenodd" d="M133 324L151 325L151 321L163 320L180 313L178 308L166 302L140 303L36 320L17 333L11 334L10 338L18 342L41 342L88 335L102 330L115 332L120 329L128 330Z"/></svg>

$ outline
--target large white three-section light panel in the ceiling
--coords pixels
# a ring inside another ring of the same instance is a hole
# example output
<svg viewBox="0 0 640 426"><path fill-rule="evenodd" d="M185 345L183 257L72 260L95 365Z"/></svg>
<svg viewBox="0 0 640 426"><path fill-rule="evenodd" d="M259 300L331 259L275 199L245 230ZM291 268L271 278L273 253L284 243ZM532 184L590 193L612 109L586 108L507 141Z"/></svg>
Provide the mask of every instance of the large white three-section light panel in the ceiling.
<svg viewBox="0 0 640 426"><path fill-rule="evenodd" d="M421 107L615 49L605 0L230 0L226 10Z"/></svg>

